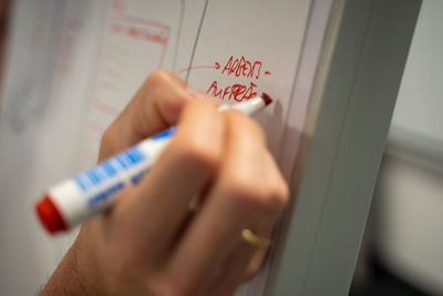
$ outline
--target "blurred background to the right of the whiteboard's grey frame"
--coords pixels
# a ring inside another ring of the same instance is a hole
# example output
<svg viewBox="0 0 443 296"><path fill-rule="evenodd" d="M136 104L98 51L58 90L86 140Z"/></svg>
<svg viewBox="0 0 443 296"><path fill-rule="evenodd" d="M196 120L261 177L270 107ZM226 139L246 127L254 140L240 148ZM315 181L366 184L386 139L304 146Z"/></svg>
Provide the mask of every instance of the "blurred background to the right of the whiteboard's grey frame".
<svg viewBox="0 0 443 296"><path fill-rule="evenodd" d="M442 17L423 1L350 295L443 295Z"/></svg>

